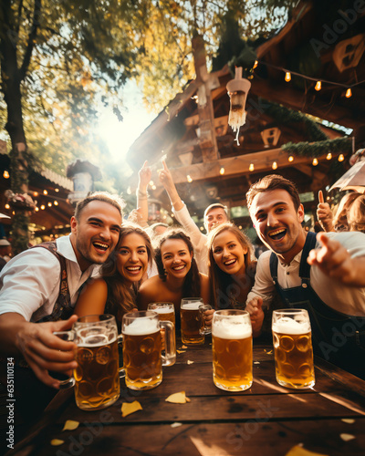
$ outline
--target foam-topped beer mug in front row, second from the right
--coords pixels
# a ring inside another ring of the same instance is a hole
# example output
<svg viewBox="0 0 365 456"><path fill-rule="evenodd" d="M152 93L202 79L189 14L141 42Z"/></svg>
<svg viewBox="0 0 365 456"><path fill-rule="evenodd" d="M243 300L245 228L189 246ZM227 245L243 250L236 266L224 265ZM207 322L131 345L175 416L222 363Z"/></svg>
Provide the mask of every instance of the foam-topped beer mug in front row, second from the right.
<svg viewBox="0 0 365 456"><path fill-rule="evenodd" d="M252 385L252 326L245 310L214 312L212 325L213 381L225 391L244 391Z"/></svg>

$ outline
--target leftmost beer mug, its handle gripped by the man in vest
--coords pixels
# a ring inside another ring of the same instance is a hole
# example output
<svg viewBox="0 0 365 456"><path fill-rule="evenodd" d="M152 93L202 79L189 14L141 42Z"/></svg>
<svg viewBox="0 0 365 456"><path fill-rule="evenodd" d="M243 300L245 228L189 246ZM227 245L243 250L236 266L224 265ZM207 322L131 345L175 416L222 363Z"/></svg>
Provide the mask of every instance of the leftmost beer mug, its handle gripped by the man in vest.
<svg viewBox="0 0 365 456"><path fill-rule="evenodd" d="M54 334L62 338L68 335L68 340L73 340L78 346L75 356L78 367L73 372L78 409L104 409L119 399L120 368L115 317L82 316L71 331Z"/></svg>

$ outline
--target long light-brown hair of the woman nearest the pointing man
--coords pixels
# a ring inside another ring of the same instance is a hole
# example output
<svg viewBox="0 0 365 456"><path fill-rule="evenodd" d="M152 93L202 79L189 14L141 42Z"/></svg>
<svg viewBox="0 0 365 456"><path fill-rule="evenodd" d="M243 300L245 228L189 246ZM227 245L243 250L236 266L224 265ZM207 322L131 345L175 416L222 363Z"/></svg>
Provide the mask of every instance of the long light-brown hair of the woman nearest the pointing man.
<svg viewBox="0 0 365 456"><path fill-rule="evenodd" d="M247 249L245 254L245 275L236 277L224 273L222 269L215 263L213 254L213 243L215 237L228 231L235 234L237 242ZM248 237L239 230L233 223L222 223L214 228L208 234L208 249L209 249L209 281L211 285L211 300L212 306L215 308L227 308L235 302L235 290L239 288L248 292L254 285L255 279L255 254L254 247Z"/></svg>

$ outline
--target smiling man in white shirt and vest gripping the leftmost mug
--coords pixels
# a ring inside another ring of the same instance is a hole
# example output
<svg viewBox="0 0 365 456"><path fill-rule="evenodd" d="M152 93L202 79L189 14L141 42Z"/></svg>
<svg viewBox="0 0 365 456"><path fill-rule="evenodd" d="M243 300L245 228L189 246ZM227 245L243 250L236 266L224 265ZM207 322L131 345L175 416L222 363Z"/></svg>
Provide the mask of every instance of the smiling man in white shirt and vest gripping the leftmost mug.
<svg viewBox="0 0 365 456"><path fill-rule="evenodd" d="M0 350L22 355L49 387L59 381L48 370L75 368L72 342L53 334L69 329L81 286L98 273L120 237L124 202L97 192L78 202L71 233L16 255L0 275ZM61 320L61 321L59 321Z"/></svg>

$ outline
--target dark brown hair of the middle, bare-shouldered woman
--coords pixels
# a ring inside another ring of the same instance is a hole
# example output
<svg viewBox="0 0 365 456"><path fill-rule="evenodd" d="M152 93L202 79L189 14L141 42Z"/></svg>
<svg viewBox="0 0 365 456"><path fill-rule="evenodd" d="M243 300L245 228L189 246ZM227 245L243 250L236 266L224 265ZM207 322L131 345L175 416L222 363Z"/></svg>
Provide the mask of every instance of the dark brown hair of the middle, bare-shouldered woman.
<svg viewBox="0 0 365 456"><path fill-rule="evenodd" d="M189 253L193 253L193 244L190 240L190 237L183 232L183 230L179 229L169 229L165 233L162 234L160 238L160 242L155 249L155 261L157 264L157 268L159 270L159 277L162 279L163 282L166 281L166 274L163 268L162 263L162 254L161 248L163 243L165 243L168 239L181 239L186 246L188 247ZM200 275L198 266L196 264L195 258L192 258L192 266L185 276L185 280L183 282L183 297L192 297L192 296L200 296Z"/></svg>

